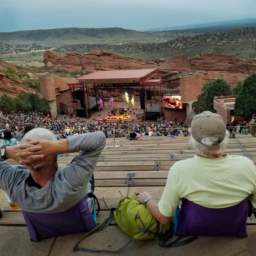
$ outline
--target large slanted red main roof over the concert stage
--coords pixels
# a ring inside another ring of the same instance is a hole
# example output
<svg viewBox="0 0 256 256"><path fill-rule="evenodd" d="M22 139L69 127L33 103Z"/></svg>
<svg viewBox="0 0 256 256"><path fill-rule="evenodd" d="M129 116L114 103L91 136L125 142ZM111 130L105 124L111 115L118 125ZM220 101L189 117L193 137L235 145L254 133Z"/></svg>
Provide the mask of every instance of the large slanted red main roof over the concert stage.
<svg viewBox="0 0 256 256"><path fill-rule="evenodd" d="M79 84L137 84L157 74L157 68L96 71L76 78Z"/></svg>

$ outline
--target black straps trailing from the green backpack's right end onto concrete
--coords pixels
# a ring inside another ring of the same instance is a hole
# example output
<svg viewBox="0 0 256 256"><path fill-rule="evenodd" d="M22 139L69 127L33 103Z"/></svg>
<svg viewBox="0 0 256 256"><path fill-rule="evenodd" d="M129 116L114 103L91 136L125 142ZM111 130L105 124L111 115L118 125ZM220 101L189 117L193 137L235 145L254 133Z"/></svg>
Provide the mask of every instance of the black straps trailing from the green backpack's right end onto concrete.
<svg viewBox="0 0 256 256"><path fill-rule="evenodd" d="M156 243L160 246L160 247L179 247L179 246L183 246L186 244L189 244L193 241L195 241L197 239L197 236L192 236L188 239L182 240L180 241L183 237L179 236L177 237L174 241L170 242L169 244L166 244L166 242L171 239L173 237L173 224L171 225L170 231L169 233L165 234L165 235L160 235L160 222L157 221L157 226L156 226ZM179 242L180 241L180 242Z"/></svg>

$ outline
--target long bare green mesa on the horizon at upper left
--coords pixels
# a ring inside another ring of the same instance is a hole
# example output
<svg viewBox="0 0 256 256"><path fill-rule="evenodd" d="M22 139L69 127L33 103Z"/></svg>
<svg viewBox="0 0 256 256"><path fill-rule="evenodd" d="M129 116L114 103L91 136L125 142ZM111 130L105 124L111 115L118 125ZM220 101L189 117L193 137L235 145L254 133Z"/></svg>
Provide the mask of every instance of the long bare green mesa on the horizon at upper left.
<svg viewBox="0 0 256 256"><path fill-rule="evenodd" d="M119 44L130 41L159 40L170 32L139 32L124 28L56 28L0 33L0 42L8 44Z"/></svg>

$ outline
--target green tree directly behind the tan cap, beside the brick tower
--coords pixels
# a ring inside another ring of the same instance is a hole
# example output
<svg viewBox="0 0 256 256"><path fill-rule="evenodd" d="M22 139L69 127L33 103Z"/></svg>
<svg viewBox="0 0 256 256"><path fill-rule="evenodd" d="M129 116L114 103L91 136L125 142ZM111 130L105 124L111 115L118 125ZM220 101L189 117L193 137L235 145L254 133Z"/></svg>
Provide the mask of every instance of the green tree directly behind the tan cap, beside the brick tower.
<svg viewBox="0 0 256 256"><path fill-rule="evenodd" d="M201 94L197 96L194 111L200 114L204 111L216 113L213 108L213 98L218 96L228 96L232 94L231 85L224 79L215 79L213 82L204 84Z"/></svg>

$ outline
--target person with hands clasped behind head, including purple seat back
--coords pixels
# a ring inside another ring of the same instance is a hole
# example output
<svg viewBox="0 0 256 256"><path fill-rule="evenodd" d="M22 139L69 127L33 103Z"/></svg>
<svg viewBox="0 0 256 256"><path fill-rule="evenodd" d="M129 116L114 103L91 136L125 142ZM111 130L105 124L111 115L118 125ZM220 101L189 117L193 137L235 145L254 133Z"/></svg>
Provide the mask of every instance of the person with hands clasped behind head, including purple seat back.
<svg viewBox="0 0 256 256"><path fill-rule="evenodd" d="M36 128L20 145L1 148L0 188L22 209L32 241L95 228L93 171L105 142L103 132L57 141L49 130ZM57 155L78 151L70 165L58 167ZM8 158L24 166L12 166Z"/></svg>

